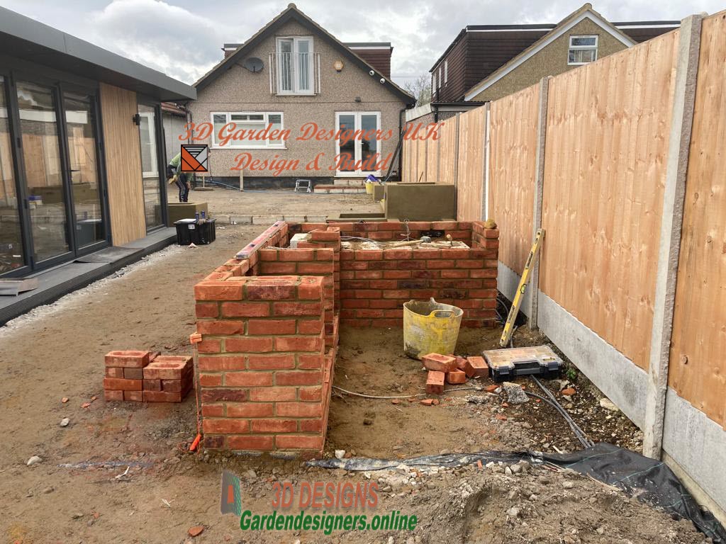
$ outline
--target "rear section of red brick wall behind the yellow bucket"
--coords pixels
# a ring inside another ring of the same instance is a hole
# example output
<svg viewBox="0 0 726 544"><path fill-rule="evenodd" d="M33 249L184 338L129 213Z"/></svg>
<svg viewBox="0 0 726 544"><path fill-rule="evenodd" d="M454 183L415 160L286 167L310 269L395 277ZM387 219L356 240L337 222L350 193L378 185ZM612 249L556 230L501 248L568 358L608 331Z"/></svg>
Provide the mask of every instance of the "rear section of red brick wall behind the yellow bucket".
<svg viewBox="0 0 726 544"><path fill-rule="evenodd" d="M428 231L442 231L465 248L391 248L340 250L340 321L351 326L401 326L403 304L427 300L464 310L462 326L494 326L497 308L497 253L499 231L481 222L417 221L400 223L304 223L292 230L308 232L314 244L333 244L336 238L359 236L378 241L419 239ZM335 244L338 244L335 246ZM298 244L300 247L300 244Z"/></svg>

